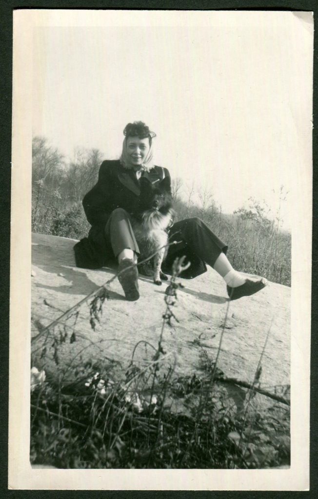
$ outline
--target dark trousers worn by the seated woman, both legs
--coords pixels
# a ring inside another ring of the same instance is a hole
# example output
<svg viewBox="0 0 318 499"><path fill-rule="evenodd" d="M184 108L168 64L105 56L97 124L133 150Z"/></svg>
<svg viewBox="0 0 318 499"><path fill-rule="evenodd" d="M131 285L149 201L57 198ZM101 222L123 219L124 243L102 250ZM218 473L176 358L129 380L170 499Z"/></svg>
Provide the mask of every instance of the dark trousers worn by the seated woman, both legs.
<svg viewBox="0 0 318 499"><path fill-rule="evenodd" d="M140 254L136 238L131 226L129 214L117 208L111 214L105 227L106 240L110 242L114 256L125 249ZM184 250L186 254L194 253L205 263L214 266L221 251L227 252L225 245L199 218L189 218L176 222L169 231L169 243L177 241L168 249L167 259Z"/></svg>

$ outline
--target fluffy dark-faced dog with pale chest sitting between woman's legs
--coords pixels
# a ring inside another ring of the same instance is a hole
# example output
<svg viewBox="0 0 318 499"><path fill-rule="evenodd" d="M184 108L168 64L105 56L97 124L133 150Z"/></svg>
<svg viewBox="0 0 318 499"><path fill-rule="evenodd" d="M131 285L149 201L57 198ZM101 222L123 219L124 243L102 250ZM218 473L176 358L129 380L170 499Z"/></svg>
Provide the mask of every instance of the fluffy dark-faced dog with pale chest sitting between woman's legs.
<svg viewBox="0 0 318 499"><path fill-rule="evenodd" d="M132 227L140 250L140 259L144 260L151 254L156 255L151 259L153 265L154 283L160 286L161 279L168 277L162 272L161 265L167 254L168 228L173 224L175 212L172 208L169 179L151 183L148 179L140 179L140 198L138 213L132 217ZM142 273L149 275L147 266L140 266Z"/></svg>

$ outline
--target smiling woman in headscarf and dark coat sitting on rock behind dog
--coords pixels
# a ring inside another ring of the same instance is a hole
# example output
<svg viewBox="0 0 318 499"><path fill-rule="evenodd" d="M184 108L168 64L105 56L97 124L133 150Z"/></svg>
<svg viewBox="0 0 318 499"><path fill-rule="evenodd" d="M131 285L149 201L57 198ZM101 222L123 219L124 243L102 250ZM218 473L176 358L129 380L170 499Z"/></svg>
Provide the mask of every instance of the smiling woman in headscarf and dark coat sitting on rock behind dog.
<svg viewBox="0 0 318 499"><path fill-rule="evenodd" d="M128 123L119 160L103 161L97 184L85 195L83 207L91 229L88 238L74 247L76 265L99 268L117 259L118 278L128 300L139 298L137 263L139 249L130 214L138 209L141 176L155 183L170 180L169 171L153 164L152 139L155 133L143 122ZM169 182L170 184L170 182ZM266 285L264 279L251 280L237 272L229 262L228 247L198 218L176 222L169 232L163 270L169 273L176 257L186 255L190 267L181 277L192 278L213 267L225 280L230 299L249 296ZM128 268L131 267L131 268Z"/></svg>

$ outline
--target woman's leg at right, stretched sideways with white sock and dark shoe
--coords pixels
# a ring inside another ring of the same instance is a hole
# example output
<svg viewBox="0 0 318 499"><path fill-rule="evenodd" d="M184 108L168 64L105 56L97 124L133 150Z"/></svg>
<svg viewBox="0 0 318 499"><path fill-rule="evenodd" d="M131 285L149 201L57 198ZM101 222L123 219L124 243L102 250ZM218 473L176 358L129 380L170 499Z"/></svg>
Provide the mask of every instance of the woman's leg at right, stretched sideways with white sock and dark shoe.
<svg viewBox="0 0 318 499"><path fill-rule="evenodd" d="M227 245L202 220L190 218L176 222L171 233L174 236L169 238L169 242L181 240L176 247L178 251L185 244L224 278L232 300L254 294L266 285L263 279L258 281L247 279L232 267L226 256Z"/></svg>

